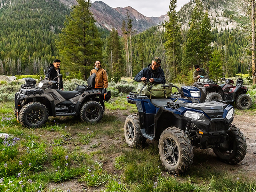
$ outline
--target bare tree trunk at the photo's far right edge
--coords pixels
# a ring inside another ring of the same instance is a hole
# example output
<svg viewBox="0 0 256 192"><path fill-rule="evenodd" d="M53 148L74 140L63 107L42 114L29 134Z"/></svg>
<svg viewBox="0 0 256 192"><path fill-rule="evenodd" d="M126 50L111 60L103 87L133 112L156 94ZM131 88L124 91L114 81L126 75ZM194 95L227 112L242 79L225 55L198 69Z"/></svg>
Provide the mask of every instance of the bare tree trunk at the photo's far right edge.
<svg viewBox="0 0 256 192"><path fill-rule="evenodd" d="M255 72L255 5L252 0L252 84L256 83Z"/></svg>

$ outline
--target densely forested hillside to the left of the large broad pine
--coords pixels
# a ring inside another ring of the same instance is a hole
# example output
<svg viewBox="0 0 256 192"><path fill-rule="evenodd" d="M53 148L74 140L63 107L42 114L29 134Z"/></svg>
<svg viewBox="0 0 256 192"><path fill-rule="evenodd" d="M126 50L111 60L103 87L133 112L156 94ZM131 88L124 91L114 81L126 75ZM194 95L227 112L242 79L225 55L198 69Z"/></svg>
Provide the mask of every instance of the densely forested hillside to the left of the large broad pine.
<svg viewBox="0 0 256 192"><path fill-rule="evenodd" d="M15 0L0 14L0 75L37 74L57 56L54 40L69 8L59 1Z"/></svg>

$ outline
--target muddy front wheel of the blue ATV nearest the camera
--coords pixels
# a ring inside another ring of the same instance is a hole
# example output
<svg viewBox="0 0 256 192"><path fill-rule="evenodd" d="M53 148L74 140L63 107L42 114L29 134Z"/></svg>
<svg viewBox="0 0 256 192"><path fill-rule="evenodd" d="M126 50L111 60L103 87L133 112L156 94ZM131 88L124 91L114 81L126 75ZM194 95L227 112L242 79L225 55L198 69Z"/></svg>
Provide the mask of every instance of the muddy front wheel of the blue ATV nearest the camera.
<svg viewBox="0 0 256 192"><path fill-rule="evenodd" d="M177 127L164 130L160 136L158 148L160 159L168 172L181 174L193 163L191 141Z"/></svg>

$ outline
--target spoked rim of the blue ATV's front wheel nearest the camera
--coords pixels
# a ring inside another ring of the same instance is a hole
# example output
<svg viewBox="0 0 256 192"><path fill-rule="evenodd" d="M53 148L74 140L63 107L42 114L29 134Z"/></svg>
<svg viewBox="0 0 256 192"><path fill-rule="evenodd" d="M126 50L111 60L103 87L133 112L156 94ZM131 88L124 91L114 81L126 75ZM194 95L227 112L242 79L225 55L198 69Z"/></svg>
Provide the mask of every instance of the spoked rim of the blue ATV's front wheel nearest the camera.
<svg viewBox="0 0 256 192"><path fill-rule="evenodd" d="M165 161L172 166L179 160L178 146L171 137L167 137L163 141L163 155Z"/></svg>

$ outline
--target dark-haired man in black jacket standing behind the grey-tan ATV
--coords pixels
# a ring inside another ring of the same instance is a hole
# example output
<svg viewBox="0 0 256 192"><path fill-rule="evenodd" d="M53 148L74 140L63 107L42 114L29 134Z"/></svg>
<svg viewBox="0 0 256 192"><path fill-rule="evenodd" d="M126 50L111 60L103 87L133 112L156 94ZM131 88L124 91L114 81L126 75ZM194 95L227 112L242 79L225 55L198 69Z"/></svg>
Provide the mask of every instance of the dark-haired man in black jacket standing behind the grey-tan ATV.
<svg viewBox="0 0 256 192"><path fill-rule="evenodd" d="M45 75L45 79L48 79L49 81L51 81L60 74L60 62L61 62L60 60L55 59L53 61L53 64L50 63L50 66ZM60 84L58 84L58 89L61 89L63 91L62 77L58 77L55 80L58 83L60 83Z"/></svg>

